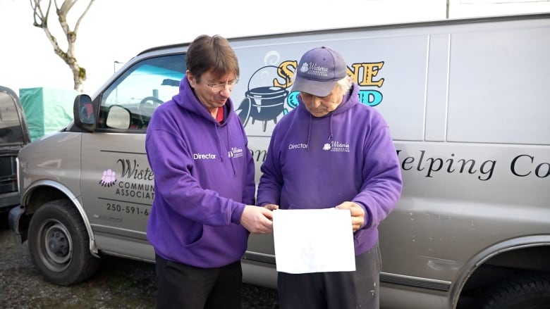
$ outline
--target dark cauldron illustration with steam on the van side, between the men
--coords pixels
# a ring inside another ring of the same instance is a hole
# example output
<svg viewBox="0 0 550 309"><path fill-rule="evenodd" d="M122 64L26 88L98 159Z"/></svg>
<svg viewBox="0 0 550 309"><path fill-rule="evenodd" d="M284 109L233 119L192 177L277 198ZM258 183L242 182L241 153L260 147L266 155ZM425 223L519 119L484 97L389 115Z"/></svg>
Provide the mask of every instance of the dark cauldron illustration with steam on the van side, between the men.
<svg viewBox="0 0 550 309"><path fill-rule="evenodd" d="M262 77L262 82L265 84L273 84L273 80L269 80L269 72L267 68L274 68L275 72L277 67L274 65L267 65L259 68L252 74L250 80L248 80L248 90L245 93L245 99L240 102L240 106L237 108L237 113L240 120L243 122L243 126L246 127L248 120L252 119L252 125L256 120L262 121L262 129L264 132L267 128L267 122L273 120L277 123L277 117L283 113L286 96L288 96L288 90L286 87L276 86L260 86L250 88L250 82L255 77ZM257 73L259 73L257 75Z"/></svg>

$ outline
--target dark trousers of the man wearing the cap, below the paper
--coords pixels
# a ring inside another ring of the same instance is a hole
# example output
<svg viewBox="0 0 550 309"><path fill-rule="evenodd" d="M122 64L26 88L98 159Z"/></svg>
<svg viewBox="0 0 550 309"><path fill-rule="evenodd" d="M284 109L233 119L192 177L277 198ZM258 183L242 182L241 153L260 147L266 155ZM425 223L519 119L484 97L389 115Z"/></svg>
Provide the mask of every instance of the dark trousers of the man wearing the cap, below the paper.
<svg viewBox="0 0 550 309"><path fill-rule="evenodd" d="M378 309L381 266L376 244L355 256L354 272L279 272L279 308Z"/></svg>

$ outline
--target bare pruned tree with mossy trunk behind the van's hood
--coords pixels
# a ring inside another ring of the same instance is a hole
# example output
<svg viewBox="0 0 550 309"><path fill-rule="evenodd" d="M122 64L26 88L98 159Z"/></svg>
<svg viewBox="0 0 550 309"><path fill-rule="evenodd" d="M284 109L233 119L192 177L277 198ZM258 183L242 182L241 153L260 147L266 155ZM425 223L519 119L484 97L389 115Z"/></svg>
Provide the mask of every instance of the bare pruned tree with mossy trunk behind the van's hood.
<svg viewBox="0 0 550 309"><path fill-rule="evenodd" d="M54 46L54 53L56 53L57 56L63 59L63 61L67 63L69 68L71 68L71 71L73 72L74 89L79 93L82 93L83 91L84 82L86 81L86 70L85 68L81 68L80 65L78 65L78 61L76 61L75 42L76 33L78 32L78 26L80 25L82 18L84 18L84 15L86 15L87 11L90 9L90 6L92 6L92 3L94 2L94 0L87 1L90 2L87 4L85 10L76 21L74 28L71 30L71 27L67 23L67 15L69 11L71 11L71 8L73 8L75 3L78 2L78 0L63 0L61 6L59 6L58 4L58 2L61 1L53 0L55 13L57 14L57 20L59 21L59 25L61 25L61 29L63 30L63 33L65 34L65 37L67 39L67 50L63 51L63 49L61 49L61 47L59 46L56 37L54 36L54 34L51 34L51 31L49 30L48 18L52 0L30 0L30 6L32 7L32 11L34 11L35 18L35 22L33 23L33 25L44 30L46 37L48 37L49 39L49 42L52 46ZM47 2L48 4L46 10L42 9L41 4L43 2Z"/></svg>

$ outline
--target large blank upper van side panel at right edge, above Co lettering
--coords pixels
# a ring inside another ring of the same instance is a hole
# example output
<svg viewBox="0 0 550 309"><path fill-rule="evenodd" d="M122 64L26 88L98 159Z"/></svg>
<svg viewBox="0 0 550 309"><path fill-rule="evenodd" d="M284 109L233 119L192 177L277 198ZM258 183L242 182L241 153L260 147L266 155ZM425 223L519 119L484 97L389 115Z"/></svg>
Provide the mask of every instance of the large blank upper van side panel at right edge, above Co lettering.
<svg viewBox="0 0 550 309"><path fill-rule="evenodd" d="M550 145L550 87L542 78L550 72L549 31L545 25L452 35L448 141Z"/></svg>

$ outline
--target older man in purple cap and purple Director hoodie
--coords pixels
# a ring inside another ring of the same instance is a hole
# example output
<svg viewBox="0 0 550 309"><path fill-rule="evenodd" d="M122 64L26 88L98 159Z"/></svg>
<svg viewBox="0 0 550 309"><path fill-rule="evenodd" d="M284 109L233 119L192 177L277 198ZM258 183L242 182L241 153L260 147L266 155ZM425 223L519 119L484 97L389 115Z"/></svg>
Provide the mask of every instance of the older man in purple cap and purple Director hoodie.
<svg viewBox="0 0 550 309"><path fill-rule="evenodd" d="M350 210L355 271L279 272L281 309L379 308L378 225L401 196L401 169L386 121L360 103L347 70L326 47L302 56L293 85L299 104L274 128L257 203Z"/></svg>

